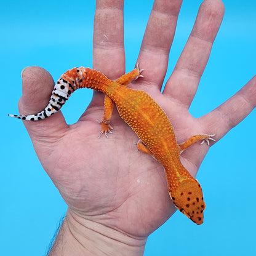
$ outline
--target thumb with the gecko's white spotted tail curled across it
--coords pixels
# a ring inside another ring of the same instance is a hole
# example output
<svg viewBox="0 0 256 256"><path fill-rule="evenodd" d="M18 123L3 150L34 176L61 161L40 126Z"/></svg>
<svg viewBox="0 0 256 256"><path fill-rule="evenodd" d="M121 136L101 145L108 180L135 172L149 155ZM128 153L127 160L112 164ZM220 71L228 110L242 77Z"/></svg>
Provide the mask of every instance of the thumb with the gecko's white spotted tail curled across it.
<svg viewBox="0 0 256 256"><path fill-rule="evenodd" d="M43 68L30 66L22 72L22 97L18 102L21 114L36 114L46 108L54 89L52 76ZM31 140L41 140L50 135L60 135L66 122L60 111L40 121L23 121Z"/></svg>

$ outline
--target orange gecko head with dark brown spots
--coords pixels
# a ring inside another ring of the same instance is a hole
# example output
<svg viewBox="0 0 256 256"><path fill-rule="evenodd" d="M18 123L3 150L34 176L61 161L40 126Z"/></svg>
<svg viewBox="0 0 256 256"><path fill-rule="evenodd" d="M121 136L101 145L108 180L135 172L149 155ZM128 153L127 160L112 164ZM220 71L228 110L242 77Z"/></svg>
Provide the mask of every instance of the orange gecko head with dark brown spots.
<svg viewBox="0 0 256 256"><path fill-rule="evenodd" d="M201 185L195 178L183 180L175 190L170 189L170 198L180 212L194 223L201 225L204 221L206 204L202 196Z"/></svg>

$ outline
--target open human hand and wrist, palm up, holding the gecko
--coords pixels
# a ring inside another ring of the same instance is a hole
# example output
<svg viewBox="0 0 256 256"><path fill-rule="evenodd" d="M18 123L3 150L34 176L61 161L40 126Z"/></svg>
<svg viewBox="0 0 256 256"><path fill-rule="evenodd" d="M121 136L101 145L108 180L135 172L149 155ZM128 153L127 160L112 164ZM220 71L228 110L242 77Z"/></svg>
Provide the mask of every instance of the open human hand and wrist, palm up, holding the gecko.
<svg viewBox="0 0 256 256"><path fill-rule="evenodd" d="M124 1L96 4L93 68L117 79L125 73ZM220 0L206 0L161 93L181 4L154 1L137 59L144 78L129 87L156 100L172 121L178 143L194 134L216 134L218 141L254 109L256 78L205 116L194 118L188 112L224 14ZM26 68L22 78L20 113L37 113L49 102L54 81L36 66ZM143 255L148 236L175 212L162 166L136 150L137 136L116 110L114 134L98 139L95 131L101 127L95 119L102 114L103 94L94 92L75 124L67 125L61 111L39 122L24 121L44 170L68 204L51 256ZM193 176L208 150L204 143L182 153L182 163Z"/></svg>

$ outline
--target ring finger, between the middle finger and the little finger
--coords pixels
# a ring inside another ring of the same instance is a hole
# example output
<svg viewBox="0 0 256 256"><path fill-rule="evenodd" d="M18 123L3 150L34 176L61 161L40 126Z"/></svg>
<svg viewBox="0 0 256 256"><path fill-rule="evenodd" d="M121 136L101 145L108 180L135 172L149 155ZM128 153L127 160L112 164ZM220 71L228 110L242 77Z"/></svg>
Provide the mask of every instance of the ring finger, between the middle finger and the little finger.
<svg viewBox="0 0 256 256"><path fill-rule="evenodd" d="M189 108L198 89L223 15L222 1L206 0L202 2L190 37L167 81L164 94L177 99L186 108Z"/></svg>

